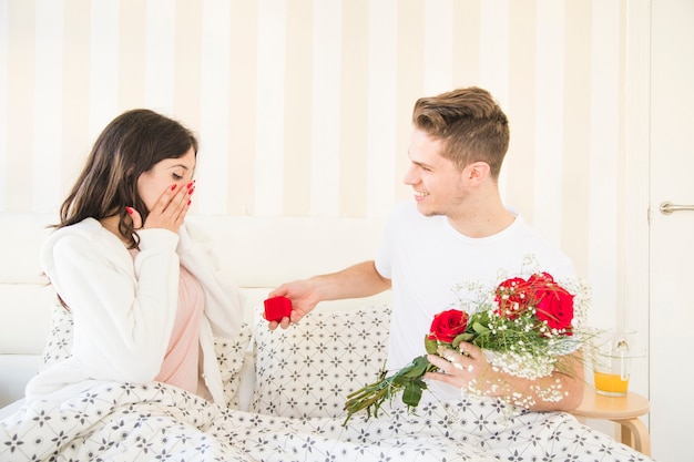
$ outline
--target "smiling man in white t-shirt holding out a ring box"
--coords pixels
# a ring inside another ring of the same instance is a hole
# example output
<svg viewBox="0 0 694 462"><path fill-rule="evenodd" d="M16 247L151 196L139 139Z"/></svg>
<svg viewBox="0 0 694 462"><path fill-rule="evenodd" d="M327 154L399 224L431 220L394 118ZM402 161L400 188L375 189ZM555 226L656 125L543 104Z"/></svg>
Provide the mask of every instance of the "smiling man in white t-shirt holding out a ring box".
<svg viewBox="0 0 694 462"><path fill-rule="evenodd" d="M489 284L500 270L520 275L528 257L560 281L575 278L571 260L501 202L498 178L509 123L489 92L468 88L422 97L415 104L412 124L405 183L412 187L414 201L395 209L376 260L279 286L271 296L286 296L294 309L280 322L269 322L271 329L298 322L322 300L392 288L388 369L397 370L423 353L425 330L437 312L465 305L466 294L456 291L460 283ZM474 380L487 396L532 410L571 410L581 402L583 368L570 357L560 361L562 372L528 380L490 368L473 345L461 343L460 350L429 357L440 372L426 376L438 383L425 399L460 398ZM561 390L563 398L538 396L548 389ZM522 401L512 398L519 396Z"/></svg>

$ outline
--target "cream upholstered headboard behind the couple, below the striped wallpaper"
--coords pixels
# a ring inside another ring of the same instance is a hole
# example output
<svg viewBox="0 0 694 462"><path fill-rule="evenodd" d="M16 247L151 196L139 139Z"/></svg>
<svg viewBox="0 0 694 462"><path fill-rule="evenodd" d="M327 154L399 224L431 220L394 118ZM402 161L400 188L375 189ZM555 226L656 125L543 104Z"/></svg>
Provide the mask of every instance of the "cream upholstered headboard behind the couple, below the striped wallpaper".
<svg viewBox="0 0 694 462"><path fill-rule="evenodd" d="M190 216L218 249L220 264L249 300L246 319L282 283L339 270L374 258L384 232L378 218ZM0 407L23 396L41 365L54 294L39 249L55 222L50 214L0 214ZM387 302L390 295L364 302ZM323 309L354 306L343 300Z"/></svg>

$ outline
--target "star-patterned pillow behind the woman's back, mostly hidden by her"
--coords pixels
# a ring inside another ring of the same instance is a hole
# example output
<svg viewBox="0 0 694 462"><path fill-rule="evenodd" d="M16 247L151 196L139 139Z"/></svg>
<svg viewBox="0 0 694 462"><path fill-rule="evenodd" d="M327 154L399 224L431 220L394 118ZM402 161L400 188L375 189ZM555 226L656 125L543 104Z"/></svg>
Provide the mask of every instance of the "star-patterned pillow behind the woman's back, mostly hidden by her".
<svg viewBox="0 0 694 462"><path fill-rule="evenodd" d="M54 302L51 305L51 331L43 347L43 365L47 369L72 355L72 312ZM235 339L215 338L214 347L222 372L224 400L227 408L238 409L238 389L244 366L244 356L252 338L251 326L244 322Z"/></svg>

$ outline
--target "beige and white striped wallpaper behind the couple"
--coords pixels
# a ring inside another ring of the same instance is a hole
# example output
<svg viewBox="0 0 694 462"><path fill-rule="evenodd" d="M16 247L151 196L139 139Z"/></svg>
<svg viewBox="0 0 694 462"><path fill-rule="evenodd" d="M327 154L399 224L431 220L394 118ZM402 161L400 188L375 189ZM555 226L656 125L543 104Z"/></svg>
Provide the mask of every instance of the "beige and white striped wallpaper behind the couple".
<svg viewBox="0 0 694 462"><path fill-rule="evenodd" d="M382 216L415 100L489 89L506 202L623 304L627 0L0 0L0 212L55 211L146 106L201 137L193 212ZM640 7L644 8L644 7ZM606 318L604 318L606 317Z"/></svg>

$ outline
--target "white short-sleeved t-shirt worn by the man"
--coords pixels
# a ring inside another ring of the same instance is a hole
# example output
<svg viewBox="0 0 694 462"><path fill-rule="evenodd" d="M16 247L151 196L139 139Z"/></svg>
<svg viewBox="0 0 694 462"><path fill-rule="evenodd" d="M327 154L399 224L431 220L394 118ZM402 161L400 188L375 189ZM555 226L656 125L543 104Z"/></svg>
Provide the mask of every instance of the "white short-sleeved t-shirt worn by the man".
<svg viewBox="0 0 694 462"><path fill-rule="evenodd" d="M462 309L459 298L465 294L459 294L457 286L480 281L493 288L500 271L508 277L527 273L523 261L528 256L534 258L537 269L558 281L575 278L569 257L519 215L493 236L470 238L445 216L423 216L415 202L396 207L376 258L378 273L392 281L388 370L396 371L426 355L423 339L433 316L449 308ZM429 390L422 401L460 398L460 390L446 383L430 381Z"/></svg>

